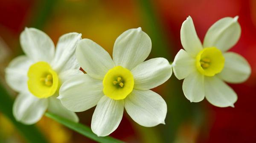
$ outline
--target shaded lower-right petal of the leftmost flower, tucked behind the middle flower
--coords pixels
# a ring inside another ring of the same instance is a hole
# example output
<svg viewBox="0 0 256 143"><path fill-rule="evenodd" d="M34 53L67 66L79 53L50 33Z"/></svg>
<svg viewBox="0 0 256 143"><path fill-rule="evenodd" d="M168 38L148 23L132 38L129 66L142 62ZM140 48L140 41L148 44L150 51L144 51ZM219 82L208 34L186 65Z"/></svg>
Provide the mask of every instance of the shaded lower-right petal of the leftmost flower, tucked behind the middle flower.
<svg viewBox="0 0 256 143"><path fill-rule="evenodd" d="M55 115L61 116L63 118L66 118L66 119L68 119L70 121L79 122L79 118L77 117L76 113L66 109L61 104L61 101L58 100L55 97L50 97L49 98L48 111L53 113L53 114L55 114Z"/></svg>

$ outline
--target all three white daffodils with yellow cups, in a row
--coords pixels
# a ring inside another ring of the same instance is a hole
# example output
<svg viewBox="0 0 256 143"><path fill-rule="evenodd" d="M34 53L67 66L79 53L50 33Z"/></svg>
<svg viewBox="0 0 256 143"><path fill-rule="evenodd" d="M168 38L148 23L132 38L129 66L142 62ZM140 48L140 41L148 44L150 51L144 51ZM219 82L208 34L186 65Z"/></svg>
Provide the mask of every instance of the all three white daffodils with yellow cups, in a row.
<svg viewBox="0 0 256 143"><path fill-rule="evenodd" d="M113 59L100 45L81 34L60 37L56 50L42 31L25 28L20 44L26 54L6 68L6 82L17 91L13 114L25 124L38 122L46 110L78 122L74 112L96 106L91 129L98 136L119 126L124 109L146 127L165 124L167 105L152 88L167 81L174 71L184 79L183 93L191 102L207 100L218 107L233 107L236 93L224 82L241 83L250 65L240 55L226 52L239 40L238 17L226 17L209 28L201 44L191 17L182 24L183 48L173 64L167 59L145 61L151 39L141 30L122 33L113 46ZM80 67L86 72L83 73Z"/></svg>

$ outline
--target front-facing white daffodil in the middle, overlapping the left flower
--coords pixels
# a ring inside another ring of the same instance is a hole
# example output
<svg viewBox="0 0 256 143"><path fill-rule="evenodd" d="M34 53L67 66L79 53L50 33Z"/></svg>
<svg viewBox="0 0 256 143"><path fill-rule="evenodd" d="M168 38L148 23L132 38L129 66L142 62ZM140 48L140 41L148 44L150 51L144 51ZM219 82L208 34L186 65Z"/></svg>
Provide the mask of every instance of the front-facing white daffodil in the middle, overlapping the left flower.
<svg viewBox="0 0 256 143"><path fill-rule="evenodd" d="M66 81L58 98L74 112L97 105L91 128L98 136L116 130L124 108L142 126L164 123L166 102L150 89L167 81L172 67L164 58L143 62L150 51L151 39L141 28L129 29L116 39L113 60L101 46L82 39L76 57L87 74Z"/></svg>

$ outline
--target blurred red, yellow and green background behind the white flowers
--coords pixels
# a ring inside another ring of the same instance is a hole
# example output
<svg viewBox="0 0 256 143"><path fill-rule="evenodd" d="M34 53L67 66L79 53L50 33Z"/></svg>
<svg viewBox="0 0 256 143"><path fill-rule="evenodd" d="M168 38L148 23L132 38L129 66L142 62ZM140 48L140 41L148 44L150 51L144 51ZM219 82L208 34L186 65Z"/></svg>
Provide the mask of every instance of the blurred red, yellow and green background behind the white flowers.
<svg viewBox="0 0 256 143"><path fill-rule="evenodd" d="M34 126L15 122L6 103L17 93L6 85L4 69L23 54L19 35L25 27L41 29L55 44L62 34L79 32L109 53L119 34L142 27L152 40L150 58L171 62L182 48L180 27L189 15L201 40L215 21L239 15L241 38L231 51L248 60L252 74L243 84L230 84L238 94L235 108L190 103L172 75L154 89L167 102L166 125L145 128L125 112L111 136L128 143L256 143L256 0L0 0L0 143L26 143L32 130L49 143L95 143L47 117ZM78 113L81 123L90 126L93 110Z"/></svg>

